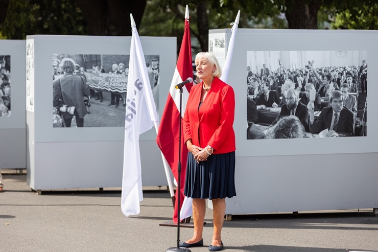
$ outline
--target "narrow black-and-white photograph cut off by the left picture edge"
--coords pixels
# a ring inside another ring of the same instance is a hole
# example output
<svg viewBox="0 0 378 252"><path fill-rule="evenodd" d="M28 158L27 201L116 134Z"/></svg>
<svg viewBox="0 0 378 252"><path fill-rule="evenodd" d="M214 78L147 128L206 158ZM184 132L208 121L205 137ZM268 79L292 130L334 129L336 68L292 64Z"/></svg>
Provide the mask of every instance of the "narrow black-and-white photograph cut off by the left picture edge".
<svg viewBox="0 0 378 252"><path fill-rule="evenodd" d="M11 56L0 55L0 117L11 114Z"/></svg>

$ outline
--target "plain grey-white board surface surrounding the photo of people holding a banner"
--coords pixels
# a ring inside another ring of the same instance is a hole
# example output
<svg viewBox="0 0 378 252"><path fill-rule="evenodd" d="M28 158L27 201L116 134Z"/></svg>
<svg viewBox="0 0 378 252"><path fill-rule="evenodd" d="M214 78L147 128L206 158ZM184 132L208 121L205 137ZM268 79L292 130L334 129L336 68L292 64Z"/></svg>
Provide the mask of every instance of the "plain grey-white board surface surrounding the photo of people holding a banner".
<svg viewBox="0 0 378 252"><path fill-rule="evenodd" d="M52 57L130 54L131 37L33 35L34 112L27 112L28 185L34 190L121 187L124 127L52 127ZM176 67L175 37L140 37L145 55L159 55L160 117ZM29 125L30 124L30 125ZM139 139L143 186L168 185L153 128Z"/></svg>

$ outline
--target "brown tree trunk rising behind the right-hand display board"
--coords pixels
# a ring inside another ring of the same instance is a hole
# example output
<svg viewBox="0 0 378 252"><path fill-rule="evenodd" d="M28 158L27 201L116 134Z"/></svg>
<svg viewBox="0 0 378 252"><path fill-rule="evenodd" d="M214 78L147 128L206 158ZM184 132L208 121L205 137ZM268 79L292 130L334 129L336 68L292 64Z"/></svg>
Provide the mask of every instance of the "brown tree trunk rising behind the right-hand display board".
<svg viewBox="0 0 378 252"><path fill-rule="evenodd" d="M318 11L322 0L291 0L286 4L289 29L318 29Z"/></svg>

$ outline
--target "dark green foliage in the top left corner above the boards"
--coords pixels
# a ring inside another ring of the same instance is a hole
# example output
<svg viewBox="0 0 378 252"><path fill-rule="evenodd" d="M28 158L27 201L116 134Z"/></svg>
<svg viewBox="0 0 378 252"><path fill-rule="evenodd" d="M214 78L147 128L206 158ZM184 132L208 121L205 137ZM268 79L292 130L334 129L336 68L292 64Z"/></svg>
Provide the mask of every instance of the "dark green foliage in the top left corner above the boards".
<svg viewBox="0 0 378 252"><path fill-rule="evenodd" d="M11 0L0 31L7 39L25 39L33 34L88 34L81 10L72 0Z"/></svg>

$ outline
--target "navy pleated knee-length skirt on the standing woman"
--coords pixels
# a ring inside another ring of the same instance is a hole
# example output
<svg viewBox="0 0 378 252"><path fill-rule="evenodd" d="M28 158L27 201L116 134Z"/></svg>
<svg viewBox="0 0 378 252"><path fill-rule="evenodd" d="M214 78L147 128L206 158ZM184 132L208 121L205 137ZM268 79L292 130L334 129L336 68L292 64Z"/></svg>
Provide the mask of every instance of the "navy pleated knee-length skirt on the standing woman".
<svg viewBox="0 0 378 252"><path fill-rule="evenodd" d="M212 154L199 164L188 152L184 194L201 199L236 196L235 152Z"/></svg>

